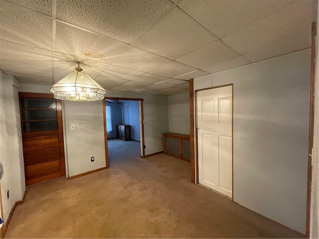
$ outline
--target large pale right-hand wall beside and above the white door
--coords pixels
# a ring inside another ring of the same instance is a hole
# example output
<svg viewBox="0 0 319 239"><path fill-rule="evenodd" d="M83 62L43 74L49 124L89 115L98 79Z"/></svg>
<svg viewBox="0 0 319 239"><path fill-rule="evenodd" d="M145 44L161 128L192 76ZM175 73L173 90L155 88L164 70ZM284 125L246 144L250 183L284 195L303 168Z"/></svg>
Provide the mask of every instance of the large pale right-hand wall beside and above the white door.
<svg viewBox="0 0 319 239"><path fill-rule="evenodd" d="M310 49L194 80L234 83L234 201L306 231Z"/></svg>

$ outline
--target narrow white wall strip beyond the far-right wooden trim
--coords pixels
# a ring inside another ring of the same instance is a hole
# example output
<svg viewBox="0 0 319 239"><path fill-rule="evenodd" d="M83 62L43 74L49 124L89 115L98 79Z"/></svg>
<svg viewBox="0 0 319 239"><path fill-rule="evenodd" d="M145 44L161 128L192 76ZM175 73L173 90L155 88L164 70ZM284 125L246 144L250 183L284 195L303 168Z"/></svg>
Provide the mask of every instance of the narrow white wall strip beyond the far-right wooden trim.
<svg viewBox="0 0 319 239"><path fill-rule="evenodd" d="M318 6L319 7L319 6ZM317 8L318 10L319 8ZM317 11L318 12L318 11ZM317 15L318 17L318 15ZM317 32L319 24L317 18ZM319 238L319 40L316 36L316 73L315 73L315 120L314 120L314 153L311 188L310 238Z"/></svg>

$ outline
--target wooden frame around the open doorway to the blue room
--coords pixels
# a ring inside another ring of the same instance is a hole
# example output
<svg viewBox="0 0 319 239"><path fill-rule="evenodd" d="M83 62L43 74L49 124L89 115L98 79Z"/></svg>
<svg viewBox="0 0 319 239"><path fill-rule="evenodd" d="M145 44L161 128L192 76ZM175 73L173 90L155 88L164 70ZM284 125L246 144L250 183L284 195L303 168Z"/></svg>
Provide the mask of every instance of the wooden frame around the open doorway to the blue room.
<svg viewBox="0 0 319 239"><path fill-rule="evenodd" d="M109 150L108 150L108 135L106 132L106 100L115 100L115 101L140 101L141 102L141 126L142 126L142 158L145 157L145 141L144 141L144 111L143 111L143 101L144 99L140 98L123 98L123 97L104 97L103 99L103 120L104 120L104 147L105 147L105 163L106 167L109 168Z"/></svg>

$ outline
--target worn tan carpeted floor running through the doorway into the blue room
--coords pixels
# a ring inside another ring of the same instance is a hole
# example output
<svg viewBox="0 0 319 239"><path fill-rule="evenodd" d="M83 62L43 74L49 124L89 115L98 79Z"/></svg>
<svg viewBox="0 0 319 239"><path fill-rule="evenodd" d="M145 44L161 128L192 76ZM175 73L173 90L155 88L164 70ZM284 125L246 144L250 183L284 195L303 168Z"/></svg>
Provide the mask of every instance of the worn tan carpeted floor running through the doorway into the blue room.
<svg viewBox="0 0 319 239"><path fill-rule="evenodd" d="M190 183L188 162L125 143L109 142L109 169L28 188L5 237L303 238Z"/></svg>

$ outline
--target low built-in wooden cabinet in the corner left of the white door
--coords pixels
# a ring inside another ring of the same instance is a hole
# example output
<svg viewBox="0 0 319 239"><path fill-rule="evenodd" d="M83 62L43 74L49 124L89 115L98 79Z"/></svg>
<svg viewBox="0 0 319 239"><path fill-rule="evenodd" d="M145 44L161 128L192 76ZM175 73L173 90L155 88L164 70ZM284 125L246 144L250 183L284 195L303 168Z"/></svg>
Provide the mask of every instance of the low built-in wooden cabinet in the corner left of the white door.
<svg viewBox="0 0 319 239"><path fill-rule="evenodd" d="M189 134L163 133L163 149L165 154L190 162Z"/></svg>

